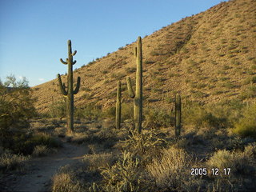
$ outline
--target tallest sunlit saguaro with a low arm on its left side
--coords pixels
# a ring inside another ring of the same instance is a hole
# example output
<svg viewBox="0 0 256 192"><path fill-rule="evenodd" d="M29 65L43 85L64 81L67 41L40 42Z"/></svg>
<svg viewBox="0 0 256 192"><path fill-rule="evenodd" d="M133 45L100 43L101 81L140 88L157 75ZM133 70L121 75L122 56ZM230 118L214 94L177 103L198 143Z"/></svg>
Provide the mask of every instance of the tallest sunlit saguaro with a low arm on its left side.
<svg viewBox="0 0 256 192"><path fill-rule="evenodd" d="M137 62L136 91L132 89L130 78L126 79L130 98L134 98L134 125L140 134L142 131L142 38L138 37L138 45L134 47Z"/></svg>

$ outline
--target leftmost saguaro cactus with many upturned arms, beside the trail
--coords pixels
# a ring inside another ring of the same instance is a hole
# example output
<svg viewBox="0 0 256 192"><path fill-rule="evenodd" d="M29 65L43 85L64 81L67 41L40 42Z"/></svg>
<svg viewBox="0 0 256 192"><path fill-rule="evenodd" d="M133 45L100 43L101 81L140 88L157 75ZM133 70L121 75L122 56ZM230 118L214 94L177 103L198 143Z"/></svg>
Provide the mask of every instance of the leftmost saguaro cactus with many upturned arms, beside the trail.
<svg viewBox="0 0 256 192"><path fill-rule="evenodd" d="M66 96L66 122L67 122L67 129L69 133L73 133L74 131L74 94L77 94L80 88L80 77L78 77L77 86L75 90L73 90L73 65L77 62L74 60L73 56L77 53L75 50L72 53L71 48L71 41L68 40L68 58L66 58L66 62L60 59L60 61L68 66L68 73L67 73L67 90L65 83L62 83L61 75L58 74L58 83L62 94Z"/></svg>

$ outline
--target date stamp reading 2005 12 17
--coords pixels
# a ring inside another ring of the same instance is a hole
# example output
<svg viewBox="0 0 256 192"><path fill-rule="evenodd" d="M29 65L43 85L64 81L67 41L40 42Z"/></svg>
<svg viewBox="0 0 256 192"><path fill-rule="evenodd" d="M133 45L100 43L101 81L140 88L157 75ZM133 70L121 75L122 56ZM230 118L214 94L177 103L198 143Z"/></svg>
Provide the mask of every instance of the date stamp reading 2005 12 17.
<svg viewBox="0 0 256 192"><path fill-rule="evenodd" d="M212 169L207 169L207 168L191 168L191 175L230 175L230 168L223 168L223 169L218 169L218 168L212 168Z"/></svg>

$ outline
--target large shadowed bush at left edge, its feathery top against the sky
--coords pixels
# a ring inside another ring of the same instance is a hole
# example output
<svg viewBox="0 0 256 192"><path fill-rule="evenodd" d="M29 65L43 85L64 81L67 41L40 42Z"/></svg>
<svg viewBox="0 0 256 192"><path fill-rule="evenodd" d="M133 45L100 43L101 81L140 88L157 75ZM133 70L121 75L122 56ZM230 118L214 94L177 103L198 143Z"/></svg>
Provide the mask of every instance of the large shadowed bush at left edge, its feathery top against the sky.
<svg viewBox="0 0 256 192"><path fill-rule="evenodd" d="M30 87L26 78L17 81L13 75L0 81L0 140L8 141L14 133L27 128L28 118L36 115ZM14 128L15 129L12 129Z"/></svg>

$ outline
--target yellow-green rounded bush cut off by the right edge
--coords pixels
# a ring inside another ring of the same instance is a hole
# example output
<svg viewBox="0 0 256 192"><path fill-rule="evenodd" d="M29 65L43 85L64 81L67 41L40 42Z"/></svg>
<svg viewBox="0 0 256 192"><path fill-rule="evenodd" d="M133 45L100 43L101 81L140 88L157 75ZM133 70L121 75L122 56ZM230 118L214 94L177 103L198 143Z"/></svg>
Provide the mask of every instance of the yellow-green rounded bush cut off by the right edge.
<svg viewBox="0 0 256 192"><path fill-rule="evenodd" d="M245 107L243 117L234 124L234 132L242 137L256 138L256 105Z"/></svg>

